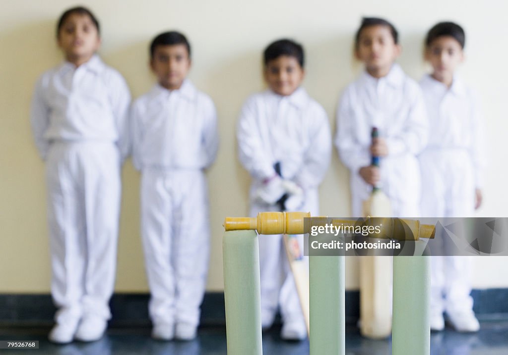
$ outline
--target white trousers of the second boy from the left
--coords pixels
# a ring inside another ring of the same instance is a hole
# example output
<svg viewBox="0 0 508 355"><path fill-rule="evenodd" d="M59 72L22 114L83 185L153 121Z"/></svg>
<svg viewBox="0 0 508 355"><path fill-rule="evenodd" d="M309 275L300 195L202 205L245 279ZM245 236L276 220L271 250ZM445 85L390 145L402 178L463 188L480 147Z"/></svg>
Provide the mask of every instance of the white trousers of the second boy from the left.
<svg viewBox="0 0 508 355"><path fill-rule="evenodd" d="M210 241L205 174L144 169L141 234L152 322L198 325Z"/></svg>

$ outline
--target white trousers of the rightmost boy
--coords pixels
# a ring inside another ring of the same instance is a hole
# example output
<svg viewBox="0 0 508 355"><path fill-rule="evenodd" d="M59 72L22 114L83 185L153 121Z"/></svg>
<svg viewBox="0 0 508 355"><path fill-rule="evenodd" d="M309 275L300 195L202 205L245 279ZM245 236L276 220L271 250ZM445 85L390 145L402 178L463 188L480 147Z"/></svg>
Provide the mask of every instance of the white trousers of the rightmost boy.
<svg viewBox="0 0 508 355"><path fill-rule="evenodd" d="M423 217L473 216L474 175L466 150L428 149L420 156L420 165ZM447 250L446 242L440 248L443 251ZM470 262L469 257L432 257L431 308L434 312L472 309Z"/></svg>

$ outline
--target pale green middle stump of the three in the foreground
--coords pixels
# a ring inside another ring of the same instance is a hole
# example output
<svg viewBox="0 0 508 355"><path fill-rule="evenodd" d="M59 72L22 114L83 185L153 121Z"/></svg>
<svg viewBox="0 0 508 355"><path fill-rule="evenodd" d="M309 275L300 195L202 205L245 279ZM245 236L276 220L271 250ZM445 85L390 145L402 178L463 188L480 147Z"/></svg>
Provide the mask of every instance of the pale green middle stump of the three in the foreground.
<svg viewBox="0 0 508 355"><path fill-rule="evenodd" d="M310 355L345 354L344 257L309 257Z"/></svg>

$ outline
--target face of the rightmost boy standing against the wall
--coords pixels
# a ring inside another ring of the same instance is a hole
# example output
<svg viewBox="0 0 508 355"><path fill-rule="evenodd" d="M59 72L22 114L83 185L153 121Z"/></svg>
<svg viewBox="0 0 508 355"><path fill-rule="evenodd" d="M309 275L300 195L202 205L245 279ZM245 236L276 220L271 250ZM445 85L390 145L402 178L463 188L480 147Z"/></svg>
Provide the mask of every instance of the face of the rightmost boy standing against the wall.
<svg viewBox="0 0 508 355"><path fill-rule="evenodd" d="M425 49L425 59L432 65L432 75L438 79L452 78L457 66L464 60L460 43L450 36L438 37Z"/></svg>

